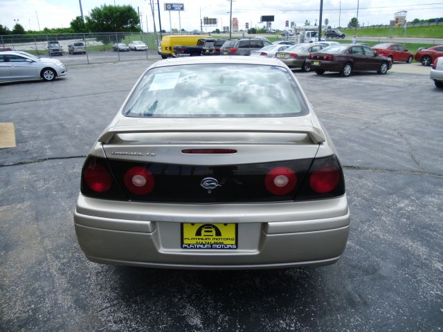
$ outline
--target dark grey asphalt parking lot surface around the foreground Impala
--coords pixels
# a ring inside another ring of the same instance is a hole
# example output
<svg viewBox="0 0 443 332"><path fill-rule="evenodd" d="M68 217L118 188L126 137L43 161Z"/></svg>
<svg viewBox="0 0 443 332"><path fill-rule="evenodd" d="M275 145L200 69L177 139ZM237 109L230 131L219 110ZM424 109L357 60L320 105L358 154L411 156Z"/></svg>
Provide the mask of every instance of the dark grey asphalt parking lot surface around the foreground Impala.
<svg viewBox="0 0 443 332"><path fill-rule="evenodd" d="M296 71L345 168L352 228L337 264L198 271L87 261L73 228L80 169L150 63L0 84L0 122L14 122L17 140L0 149L1 331L442 331L443 90L429 67Z"/></svg>

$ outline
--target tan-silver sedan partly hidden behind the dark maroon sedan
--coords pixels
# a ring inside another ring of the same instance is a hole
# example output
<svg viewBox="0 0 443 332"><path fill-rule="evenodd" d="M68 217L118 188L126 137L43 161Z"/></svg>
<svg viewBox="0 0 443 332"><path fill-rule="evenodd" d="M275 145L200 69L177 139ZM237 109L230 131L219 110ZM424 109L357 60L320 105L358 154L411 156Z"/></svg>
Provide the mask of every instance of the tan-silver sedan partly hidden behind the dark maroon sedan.
<svg viewBox="0 0 443 332"><path fill-rule="evenodd" d="M322 44L297 44L282 52L275 53L275 57L289 68L301 68L302 71L311 71L311 66L306 63L307 56L311 52L318 52L327 46Z"/></svg>

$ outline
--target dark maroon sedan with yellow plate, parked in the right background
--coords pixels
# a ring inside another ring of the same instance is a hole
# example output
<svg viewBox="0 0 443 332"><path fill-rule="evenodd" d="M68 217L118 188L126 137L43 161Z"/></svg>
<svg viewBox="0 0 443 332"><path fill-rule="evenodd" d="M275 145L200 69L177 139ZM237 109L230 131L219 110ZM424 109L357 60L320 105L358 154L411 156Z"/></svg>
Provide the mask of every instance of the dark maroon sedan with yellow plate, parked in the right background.
<svg viewBox="0 0 443 332"><path fill-rule="evenodd" d="M392 67L389 57L379 55L375 50L363 45L334 45L323 48L320 52L310 53L306 64L318 75L325 71L337 71L343 77L354 71L377 71L386 74Z"/></svg>

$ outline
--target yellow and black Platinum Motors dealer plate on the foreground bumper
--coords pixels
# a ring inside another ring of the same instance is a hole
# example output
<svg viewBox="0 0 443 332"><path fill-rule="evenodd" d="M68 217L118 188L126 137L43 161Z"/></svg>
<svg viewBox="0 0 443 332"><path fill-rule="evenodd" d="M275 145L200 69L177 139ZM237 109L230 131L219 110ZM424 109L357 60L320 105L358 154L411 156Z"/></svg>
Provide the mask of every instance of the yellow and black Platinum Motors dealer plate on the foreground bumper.
<svg viewBox="0 0 443 332"><path fill-rule="evenodd" d="M183 249L237 249L237 223L182 223Z"/></svg>

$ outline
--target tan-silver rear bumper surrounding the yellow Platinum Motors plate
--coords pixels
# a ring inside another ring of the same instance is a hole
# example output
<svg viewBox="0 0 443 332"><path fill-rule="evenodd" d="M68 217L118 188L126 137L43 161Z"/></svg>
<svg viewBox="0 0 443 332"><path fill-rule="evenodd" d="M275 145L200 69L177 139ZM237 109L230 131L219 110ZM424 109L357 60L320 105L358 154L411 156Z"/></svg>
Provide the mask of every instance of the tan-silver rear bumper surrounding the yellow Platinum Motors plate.
<svg viewBox="0 0 443 332"><path fill-rule="evenodd" d="M179 205L113 202L80 194L80 248L91 261L158 268L283 268L332 264L350 227L346 196L268 204ZM180 223L238 223L237 250L180 247Z"/></svg>

